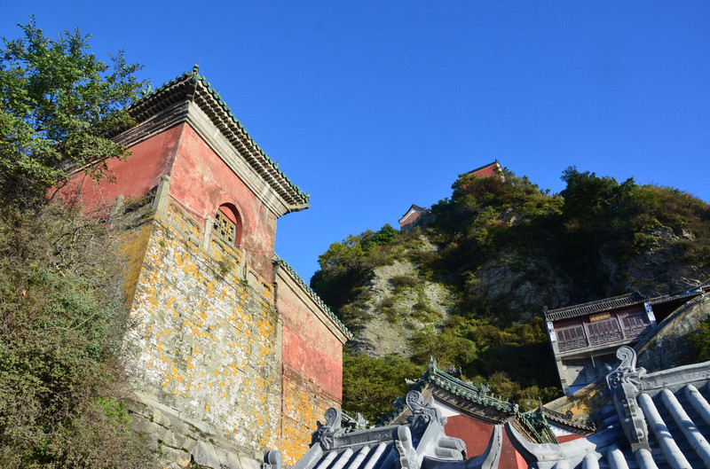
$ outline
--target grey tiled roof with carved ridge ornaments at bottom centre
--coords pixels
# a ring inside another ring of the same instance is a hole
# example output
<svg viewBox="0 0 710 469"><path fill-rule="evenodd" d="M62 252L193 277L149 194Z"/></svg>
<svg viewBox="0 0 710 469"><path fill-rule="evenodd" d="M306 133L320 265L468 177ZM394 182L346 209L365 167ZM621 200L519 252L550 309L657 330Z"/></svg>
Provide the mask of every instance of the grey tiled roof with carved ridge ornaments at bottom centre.
<svg viewBox="0 0 710 469"><path fill-rule="evenodd" d="M500 457L502 430L495 432L485 452L466 458L463 442L444 433L445 418L423 405L416 391L406 395L412 418L403 425L344 433L341 412L328 409L326 423L313 434L311 449L293 469L494 469ZM263 469L280 469L278 451L264 456Z"/></svg>

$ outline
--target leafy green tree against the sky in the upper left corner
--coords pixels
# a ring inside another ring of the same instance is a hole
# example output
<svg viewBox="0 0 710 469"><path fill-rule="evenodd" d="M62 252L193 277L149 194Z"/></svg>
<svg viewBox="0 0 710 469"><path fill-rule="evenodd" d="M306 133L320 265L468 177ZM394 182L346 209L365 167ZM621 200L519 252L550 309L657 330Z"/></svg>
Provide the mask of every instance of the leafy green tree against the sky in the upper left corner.
<svg viewBox="0 0 710 469"><path fill-rule="evenodd" d="M99 178L107 159L126 156L106 134L130 126L125 108L144 83L122 51L108 66L77 29L49 39L34 18L20 27L24 37L0 49L0 197L27 206L73 168Z"/></svg>

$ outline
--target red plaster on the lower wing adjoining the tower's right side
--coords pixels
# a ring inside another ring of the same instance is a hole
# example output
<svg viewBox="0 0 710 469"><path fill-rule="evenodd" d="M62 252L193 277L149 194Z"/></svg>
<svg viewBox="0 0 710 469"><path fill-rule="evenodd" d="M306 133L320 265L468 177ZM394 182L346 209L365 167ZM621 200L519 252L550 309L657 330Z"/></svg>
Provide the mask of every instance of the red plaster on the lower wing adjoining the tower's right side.
<svg viewBox="0 0 710 469"><path fill-rule="evenodd" d="M284 367L312 381L341 403L343 345L285 282L279 284L276 309L283 317Z"/></svg>

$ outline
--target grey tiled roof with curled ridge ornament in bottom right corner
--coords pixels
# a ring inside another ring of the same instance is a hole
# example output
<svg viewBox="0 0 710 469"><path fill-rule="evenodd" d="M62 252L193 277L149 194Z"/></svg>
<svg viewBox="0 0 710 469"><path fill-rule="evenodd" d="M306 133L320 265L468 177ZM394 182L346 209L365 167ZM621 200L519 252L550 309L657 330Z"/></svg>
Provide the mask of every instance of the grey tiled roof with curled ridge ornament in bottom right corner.
<svg viewBox="0 0 710 469"><path fill-rule="evenodd" d="M607 376L613 405L597 420L601 430L559 445L528 442L506 432L537 469L690 469L710 467L710 362L647 373L633 348L617 351L619 367Z"/></svg>

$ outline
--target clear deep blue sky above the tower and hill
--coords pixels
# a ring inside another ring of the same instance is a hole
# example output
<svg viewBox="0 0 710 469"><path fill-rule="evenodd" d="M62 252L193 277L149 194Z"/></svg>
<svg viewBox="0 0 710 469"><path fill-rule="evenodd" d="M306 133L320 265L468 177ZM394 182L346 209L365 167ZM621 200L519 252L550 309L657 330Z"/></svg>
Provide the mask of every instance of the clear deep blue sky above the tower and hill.
<svg viewBox="0 0 710 469"><path fill-rule="evenodd" d="M30 13L154 87L200 64L312 194L276 243L306 280L330 243L495 159L552 192L576 165L710 200L708 2L0 0L0 35Z"/></svg>

